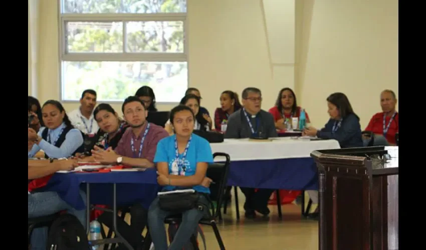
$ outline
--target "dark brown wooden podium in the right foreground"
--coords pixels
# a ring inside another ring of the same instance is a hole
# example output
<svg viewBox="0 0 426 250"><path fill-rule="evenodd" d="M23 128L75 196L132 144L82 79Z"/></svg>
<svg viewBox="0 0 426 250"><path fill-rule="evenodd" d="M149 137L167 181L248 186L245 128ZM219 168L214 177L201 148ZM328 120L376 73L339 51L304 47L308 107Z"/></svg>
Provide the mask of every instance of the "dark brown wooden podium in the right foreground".
<svg viewBox="0 0 426 250"><path fill-rule="evenodd" d="M398 147L317 150L311 156L319 174L319 249L398 249Z"/></svg>

